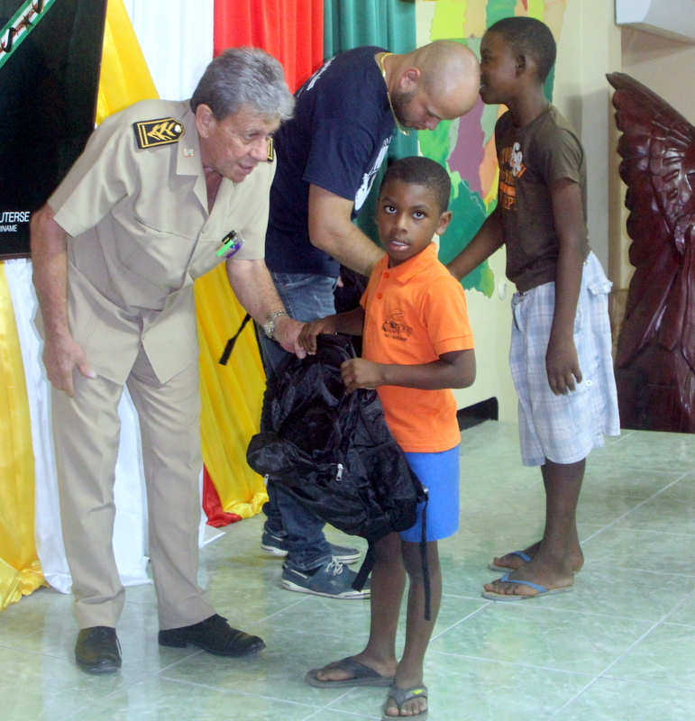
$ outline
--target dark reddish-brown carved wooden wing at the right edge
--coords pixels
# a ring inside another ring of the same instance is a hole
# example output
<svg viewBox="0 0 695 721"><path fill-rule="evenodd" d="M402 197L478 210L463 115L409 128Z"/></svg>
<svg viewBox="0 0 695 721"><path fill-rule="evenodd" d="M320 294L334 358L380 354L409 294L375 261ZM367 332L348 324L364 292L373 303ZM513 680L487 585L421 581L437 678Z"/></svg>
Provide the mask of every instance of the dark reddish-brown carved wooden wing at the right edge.
<svg viewBox="0 0 695 721"><path fill-rule="evenodd" d="M622 136L620 177L627 186L632 239L626 316L617 365L624 367L647 342L673 350L681 344L693 366L695 355L695 269L691 234L695 221L695 129L649 88L625 73L611 73L613 105Z"/></svg>

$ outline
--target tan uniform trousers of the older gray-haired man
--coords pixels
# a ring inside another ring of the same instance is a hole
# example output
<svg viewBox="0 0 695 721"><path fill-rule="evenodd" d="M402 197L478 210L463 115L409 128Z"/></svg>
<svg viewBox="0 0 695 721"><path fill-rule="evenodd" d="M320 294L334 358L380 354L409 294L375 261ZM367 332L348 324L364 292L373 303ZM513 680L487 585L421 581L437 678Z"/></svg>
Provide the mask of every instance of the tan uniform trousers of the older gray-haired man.
<svg viewBox="0 0 695 721"><path fill-rule="evenodd" d="M176 352L172 348L172 352ZM53 388L53 437L65 552L80 628L115 627L125 592L114 560L114 479L123 388L74 371L75 397ZM165 385L142 350L126 382L138 411L160 628L196 624L215 609L197 585L202 467L198 367Z"/></svg>

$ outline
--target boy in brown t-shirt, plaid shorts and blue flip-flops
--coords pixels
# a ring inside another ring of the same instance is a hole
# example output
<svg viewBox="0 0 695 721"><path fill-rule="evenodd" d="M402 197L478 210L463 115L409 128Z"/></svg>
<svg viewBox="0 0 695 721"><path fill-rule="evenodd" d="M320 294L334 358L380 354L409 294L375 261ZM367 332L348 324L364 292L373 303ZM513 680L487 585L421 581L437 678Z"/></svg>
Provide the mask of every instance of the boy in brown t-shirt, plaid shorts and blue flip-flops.
<svg viewBox="0 0 695 721"><path fill-rule="evenodd" d="M584 151L544 96L555 50L548 27L529 17L500 20L483 36L480 96L508 107L495 128L498 205L449 265L463 278L507 246L522 460L541 466L547 497L541 541L489 564L508 571L485 585L492 600L572 589L584 562L576 509L586 456L604 434L619 434L610 283L587 238Z"/></svg>

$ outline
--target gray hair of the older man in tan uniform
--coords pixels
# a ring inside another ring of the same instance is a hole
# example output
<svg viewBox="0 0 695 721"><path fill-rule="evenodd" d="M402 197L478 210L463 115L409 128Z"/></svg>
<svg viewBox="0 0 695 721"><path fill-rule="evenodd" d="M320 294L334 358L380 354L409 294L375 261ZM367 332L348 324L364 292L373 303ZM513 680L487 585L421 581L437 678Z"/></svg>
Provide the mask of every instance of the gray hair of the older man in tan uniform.
<svg viewBox="0 0 695 721"><path fill-rule="evenodd" d="M295 98L278 60L260 48L228 48L206 68L190 101L193 112L207 105L217 120L242 106L268 121L292 117Z"/></svg>

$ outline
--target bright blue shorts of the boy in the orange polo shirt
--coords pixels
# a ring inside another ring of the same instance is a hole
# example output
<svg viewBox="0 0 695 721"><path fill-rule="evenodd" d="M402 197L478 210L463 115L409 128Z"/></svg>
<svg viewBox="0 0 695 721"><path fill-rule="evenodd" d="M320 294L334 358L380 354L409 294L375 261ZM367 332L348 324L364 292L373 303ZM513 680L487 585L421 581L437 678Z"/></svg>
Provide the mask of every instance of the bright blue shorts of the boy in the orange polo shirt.
<svg viewBox="0 0 695 721"><path fill-rule="evenodd" d="M459 446L437 453L406 453L407 462L429 492L427 541L448 538L459 529ZM421 503L416 525L403 531L403 541L419 543L422 536Z"/></svg>

